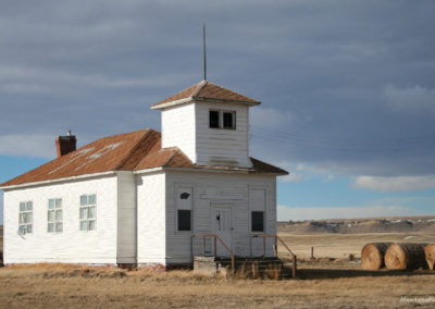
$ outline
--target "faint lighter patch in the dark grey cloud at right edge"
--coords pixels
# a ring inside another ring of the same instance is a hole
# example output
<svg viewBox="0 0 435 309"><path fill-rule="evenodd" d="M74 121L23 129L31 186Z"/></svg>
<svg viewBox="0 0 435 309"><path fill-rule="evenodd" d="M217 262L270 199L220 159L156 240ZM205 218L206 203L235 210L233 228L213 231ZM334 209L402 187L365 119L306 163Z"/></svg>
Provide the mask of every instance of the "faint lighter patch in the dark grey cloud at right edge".
<svg viewBox="0 0 435 309"><path fill-rule="evenodd" d="M387 104L397 111L435 115L435 89L419 85L409 88L397 88L388 85L384 88Z"/></svg>

